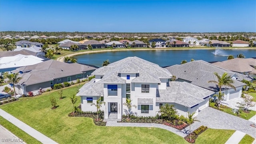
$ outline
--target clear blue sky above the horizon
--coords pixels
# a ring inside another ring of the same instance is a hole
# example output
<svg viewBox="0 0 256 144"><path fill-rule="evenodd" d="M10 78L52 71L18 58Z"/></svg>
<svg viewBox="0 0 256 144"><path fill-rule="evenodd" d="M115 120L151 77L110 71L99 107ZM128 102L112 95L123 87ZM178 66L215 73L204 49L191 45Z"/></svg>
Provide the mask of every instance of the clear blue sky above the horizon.
<svg viewBox="0 0 256 144"><path fill-rule="evenodd" d="M256 0L0 0L0 31L256 32Z"/></svg>

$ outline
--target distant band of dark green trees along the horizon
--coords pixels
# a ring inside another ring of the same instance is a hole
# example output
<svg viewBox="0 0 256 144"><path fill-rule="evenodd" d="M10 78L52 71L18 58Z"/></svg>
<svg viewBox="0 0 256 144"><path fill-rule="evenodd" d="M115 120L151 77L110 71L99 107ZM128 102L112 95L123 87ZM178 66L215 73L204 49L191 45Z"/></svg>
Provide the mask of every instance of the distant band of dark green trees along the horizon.
<svg viewBox="0 0 256 144"><path fill-rule="evenodd" d="M160 37L160 36L235 36L243 35L245 37L256 36L256 32L40 32L40 31L2 31L0 36L122 36L130 38L132 36L139 37Z"/></svg>

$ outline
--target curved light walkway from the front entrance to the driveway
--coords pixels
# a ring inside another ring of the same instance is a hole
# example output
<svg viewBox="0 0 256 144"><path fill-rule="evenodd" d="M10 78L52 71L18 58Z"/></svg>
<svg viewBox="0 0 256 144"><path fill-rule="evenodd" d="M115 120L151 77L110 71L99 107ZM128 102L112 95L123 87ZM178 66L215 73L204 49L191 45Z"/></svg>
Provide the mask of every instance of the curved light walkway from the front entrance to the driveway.
<svg viewBox="0 0 256 144"><path fill-rule="evenodd" d="M170 126L166 126L164 124L155 124L155 123L133 123L133 122L114 122L108 121L106 126L132 126L132 127L148 127L148 128L162 128L173 132L174 134L178 134L179 136L185 137L187 134L183 130L177 130L176 128L172 128Z"/></svg>

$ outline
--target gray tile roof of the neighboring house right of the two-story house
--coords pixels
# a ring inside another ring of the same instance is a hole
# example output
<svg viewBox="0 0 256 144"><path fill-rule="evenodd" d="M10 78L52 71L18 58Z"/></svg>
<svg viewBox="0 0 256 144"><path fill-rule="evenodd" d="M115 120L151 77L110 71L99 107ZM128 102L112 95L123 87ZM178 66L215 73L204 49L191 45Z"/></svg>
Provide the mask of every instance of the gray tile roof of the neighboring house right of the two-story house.
<svg viewBox="0 0 256 144"><path fill-rule="evenodd" d="M224 74L224 72L227 72L228 75L237 77L237 80L234 80L233 84L235 87L245 85L244 83L239 82L238 80L251 80L246 75L242 75L236 72L232 72L230 70L226 70L224 68L220 68L203 60L188 62L186 64L181 65L169 66L166 67L166 70L168 70L172 75L176 76L176 78L190 81L191 84L214 91L216 91L216 85L213 83L208 83L208 81L210 80L218 80L216 76L213 74L214 72L217 72L220 75Z"/></svg>

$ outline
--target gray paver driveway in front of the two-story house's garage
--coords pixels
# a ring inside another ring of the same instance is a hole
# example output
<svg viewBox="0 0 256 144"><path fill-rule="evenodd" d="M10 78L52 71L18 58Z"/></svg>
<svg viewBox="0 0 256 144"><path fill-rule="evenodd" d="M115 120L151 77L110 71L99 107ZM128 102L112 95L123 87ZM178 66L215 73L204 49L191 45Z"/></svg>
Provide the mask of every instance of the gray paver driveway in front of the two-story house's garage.
<svg viewBox="0 0 256 144"><path fill-rule="evenodd" d="M195 130L204 125L208 128L239 130L256 138L256 128L250 126L252 122L226 112L206 107L201 110L196 117L200 122L194 122L194 124L191 125L191 130ZM189 129L189 127L186 129Z"/></svg>

